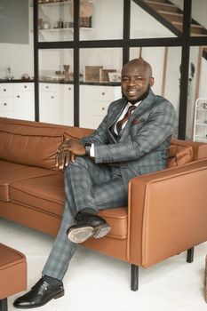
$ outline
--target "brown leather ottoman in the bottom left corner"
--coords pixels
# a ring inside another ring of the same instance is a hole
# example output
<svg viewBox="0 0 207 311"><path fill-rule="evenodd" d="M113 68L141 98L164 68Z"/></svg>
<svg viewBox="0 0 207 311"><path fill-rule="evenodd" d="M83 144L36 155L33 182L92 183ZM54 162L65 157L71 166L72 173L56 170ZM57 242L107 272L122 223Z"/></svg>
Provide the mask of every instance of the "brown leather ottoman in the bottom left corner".
<svg viewBox="0 0 207 311"><path fill-rule="evenodd" d="M7 311L7 297L26 289L25 255L0 243L0 311Z"/></svg>

